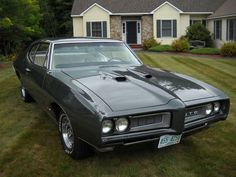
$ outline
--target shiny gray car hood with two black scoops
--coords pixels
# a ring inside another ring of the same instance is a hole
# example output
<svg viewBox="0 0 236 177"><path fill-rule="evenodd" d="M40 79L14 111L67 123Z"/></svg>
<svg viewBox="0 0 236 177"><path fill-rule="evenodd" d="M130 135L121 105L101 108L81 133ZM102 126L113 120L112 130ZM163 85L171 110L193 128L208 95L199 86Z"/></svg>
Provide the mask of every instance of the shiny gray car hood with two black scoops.
<svg viewBox="0 0 236 177"><path fill-rule="evenodd" d="M113 111L165 105L172 99L186 102L216 96L204 84L146 66L86 67L63 72L91 90Z"/></svg>

